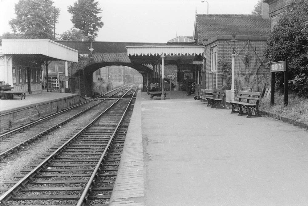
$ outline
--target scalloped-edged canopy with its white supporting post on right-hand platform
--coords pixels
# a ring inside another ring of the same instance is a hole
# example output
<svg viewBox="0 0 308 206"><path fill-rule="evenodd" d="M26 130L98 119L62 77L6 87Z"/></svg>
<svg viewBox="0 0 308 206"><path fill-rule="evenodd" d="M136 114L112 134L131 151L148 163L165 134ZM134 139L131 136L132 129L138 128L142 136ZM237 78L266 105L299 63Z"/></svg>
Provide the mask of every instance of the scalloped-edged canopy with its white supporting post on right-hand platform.
<svg viewBox="0 0 308 206"><path fill-rule="evenodd" d="M148 45L148 46L128 46L127 54L132 62L138 64L152 64L154 72L160 72L157 66L161 65L161 99L164 100L164 81L168 80L165 72L165 64L176 64L176 81L178 80L179 72L191 73L192 70L185 70L185 66L189 65L192 68L193 61L202 61L204 54L204 46L202 45ZM203 67L200 67L203 68ZM197 76L199 77L198 72ZM195 75L196 78L196 75ZM148 79L148 78L147 78ZM171 79L170 84L171 84ZM173 80L174 81L174 80ZM199 81L199 78L198 78ZM149 86L147 82L147 86Z"/></svg>

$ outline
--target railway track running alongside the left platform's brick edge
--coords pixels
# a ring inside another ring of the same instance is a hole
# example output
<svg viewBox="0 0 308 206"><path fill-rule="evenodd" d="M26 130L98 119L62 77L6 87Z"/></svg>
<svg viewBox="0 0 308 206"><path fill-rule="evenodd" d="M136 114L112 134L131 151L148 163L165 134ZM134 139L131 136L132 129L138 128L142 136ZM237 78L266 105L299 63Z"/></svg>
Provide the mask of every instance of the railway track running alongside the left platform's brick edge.
<svg viewBox="0 0 308 206"><path fill-rule="evenodd" d="M0 158L4 159L11 153L14 153L17 150L24 148L30 142L33 142L38 138L41 138L42 136L61 127L65 123L73 120L74 118L89 111L90 109L97 107L98 105L100 105L101 108L107 108L108 105L111 105L111 103L115 101L115 100L109 100L112 99L111 97L114 97L117 94L119 94L119 91L121 93L121 96L123 96L124 93L126 93L126 96L128 96L127 91L129 91L129 89L132 86L133 85L131 85L127 89L126 87L114 89L111 92L108 92L93 100L87 101L80 105L76 105L69 109L65 109L48 117L42 118L39 121L32 122L26 126L2 134L0 136L1 137ZM130 95L131 92L129 92L128 94ZM97 112L95 111L95 113Z"/></svg>

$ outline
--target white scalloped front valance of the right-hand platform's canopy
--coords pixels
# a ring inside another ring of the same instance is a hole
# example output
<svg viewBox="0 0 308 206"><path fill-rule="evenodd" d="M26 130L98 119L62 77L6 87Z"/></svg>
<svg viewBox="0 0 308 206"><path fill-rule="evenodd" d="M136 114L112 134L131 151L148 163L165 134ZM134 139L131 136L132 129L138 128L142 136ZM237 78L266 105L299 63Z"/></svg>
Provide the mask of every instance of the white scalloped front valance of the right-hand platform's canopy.
<svg viewBox="0 0 308 206"><path fill-rule="evenodd" d="M202 55L204 46L200 45L157 45L157 46L138 46L126 47L127 55L131 56L147 56L147 55Z"/></svg>

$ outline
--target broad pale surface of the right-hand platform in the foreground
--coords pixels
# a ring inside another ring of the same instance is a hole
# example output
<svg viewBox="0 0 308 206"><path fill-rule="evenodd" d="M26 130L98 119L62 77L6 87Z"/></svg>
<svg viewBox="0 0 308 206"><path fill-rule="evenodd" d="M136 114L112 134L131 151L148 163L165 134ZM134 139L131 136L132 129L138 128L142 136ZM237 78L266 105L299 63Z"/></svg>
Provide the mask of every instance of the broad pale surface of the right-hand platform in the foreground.
<svg viewBox="0 0 308 206"><path fill-rule="evenodd" d="M109 205L308 205L308 131L139 93Z"/></svg>

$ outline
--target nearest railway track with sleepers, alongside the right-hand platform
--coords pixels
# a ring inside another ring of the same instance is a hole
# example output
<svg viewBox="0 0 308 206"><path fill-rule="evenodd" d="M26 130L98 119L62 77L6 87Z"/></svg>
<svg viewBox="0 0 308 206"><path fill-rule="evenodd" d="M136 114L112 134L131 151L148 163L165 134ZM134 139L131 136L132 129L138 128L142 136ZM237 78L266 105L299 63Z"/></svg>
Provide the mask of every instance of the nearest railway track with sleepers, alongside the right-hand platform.
<svg viewBox="0 0 308 206"><path fill-rule="evenodd" d="M8 182L14 185L0 197L1 204L106 205L120 162L129 123L125 114L131 103L132 98L115 101L50 155L40 157L42 162L23 170L29 173L16 175L21 179Z"/></svg>

